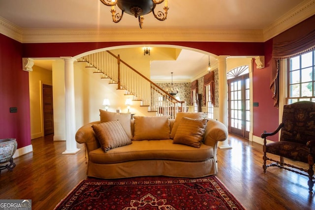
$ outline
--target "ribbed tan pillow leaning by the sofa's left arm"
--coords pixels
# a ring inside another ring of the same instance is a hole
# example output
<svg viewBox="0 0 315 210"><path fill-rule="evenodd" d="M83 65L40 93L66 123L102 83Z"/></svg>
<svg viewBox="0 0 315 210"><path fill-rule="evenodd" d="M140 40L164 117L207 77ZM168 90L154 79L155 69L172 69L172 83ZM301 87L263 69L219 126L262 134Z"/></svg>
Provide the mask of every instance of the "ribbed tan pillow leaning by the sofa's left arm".
<svg viewBox="0 0 315 210"><path fill-rule="evenodd" d="M94 124L92 127L104 152L132 143L118 120Z"/></svg>

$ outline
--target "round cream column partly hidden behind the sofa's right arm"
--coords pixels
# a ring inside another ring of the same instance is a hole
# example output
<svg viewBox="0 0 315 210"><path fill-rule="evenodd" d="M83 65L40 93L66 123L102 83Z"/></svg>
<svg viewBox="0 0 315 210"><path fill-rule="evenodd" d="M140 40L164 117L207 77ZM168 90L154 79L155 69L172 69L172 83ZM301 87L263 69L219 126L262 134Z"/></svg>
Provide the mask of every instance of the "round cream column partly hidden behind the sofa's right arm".
<svg viewBox="0 0 315 210"><path fill-rule="evenodd" d="M227 79L226 79L226 58L219 56L219 121L227 127ZM228 140L219 142L220 149L232 149Z"/></svg>

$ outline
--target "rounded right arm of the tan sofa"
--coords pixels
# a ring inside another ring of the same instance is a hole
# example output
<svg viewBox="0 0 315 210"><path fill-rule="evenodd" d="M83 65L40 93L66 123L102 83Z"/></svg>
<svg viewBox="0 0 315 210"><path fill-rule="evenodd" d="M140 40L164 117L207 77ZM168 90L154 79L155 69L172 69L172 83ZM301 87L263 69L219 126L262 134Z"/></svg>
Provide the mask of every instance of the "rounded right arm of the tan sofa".
<svg viewBox="0 0 315 210"><path fill-rule="evenodd" d="M215 147L218 141L224 141L228 137L226 126L217 120L209 119L204 135L204 144Z"/></svg>

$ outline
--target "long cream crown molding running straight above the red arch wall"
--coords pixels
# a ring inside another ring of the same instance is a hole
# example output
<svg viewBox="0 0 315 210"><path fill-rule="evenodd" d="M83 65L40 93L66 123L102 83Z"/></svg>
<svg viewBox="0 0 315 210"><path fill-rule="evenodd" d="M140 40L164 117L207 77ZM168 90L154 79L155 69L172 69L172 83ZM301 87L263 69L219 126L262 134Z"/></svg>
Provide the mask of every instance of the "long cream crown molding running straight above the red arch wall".
<svg viewBox="0 0 315 210"><path fill-rule="evenodd" d="M262 30L24 30L23 43L113 41L263 42Z"/></svg>

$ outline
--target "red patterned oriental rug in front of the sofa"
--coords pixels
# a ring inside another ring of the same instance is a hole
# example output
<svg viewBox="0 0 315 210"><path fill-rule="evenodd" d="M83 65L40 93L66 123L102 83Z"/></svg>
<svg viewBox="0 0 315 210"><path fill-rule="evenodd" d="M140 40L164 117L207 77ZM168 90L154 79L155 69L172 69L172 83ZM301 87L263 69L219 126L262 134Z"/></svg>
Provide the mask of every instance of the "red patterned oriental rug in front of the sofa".
<svg viewBox="0 0 315 210"><path fill-rule="evenodd" d="M245 210L215 177L83 180L55 210Z"/></svg>

